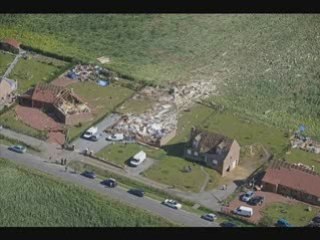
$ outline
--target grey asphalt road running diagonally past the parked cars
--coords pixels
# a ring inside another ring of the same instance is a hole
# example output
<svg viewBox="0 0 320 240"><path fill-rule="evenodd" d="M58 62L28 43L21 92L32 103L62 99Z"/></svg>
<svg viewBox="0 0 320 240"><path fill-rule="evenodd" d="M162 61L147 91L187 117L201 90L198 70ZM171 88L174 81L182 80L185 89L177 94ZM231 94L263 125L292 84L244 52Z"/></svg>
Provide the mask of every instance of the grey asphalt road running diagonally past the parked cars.
<svg viewBox="0 0 320 240"><path fill-rule="evenodd" d="M50 175L54 175L62 180L81 185L85 188L94 190L104 196L113 198L120 202L126 203L133 207L147 210L155 215L166 218L171 222L188 227L219 227L217 223L211 223L200 218L200 216L186 212L184 210L175 210L162 205L159 201L144 197L139 198L133 196L121 187L107 188L99 183L98 180L92 180L85 178L81 175L65 172L63 166L46 162L38 156L31 155L29 153L19 154L11 152L6 146L0 145L0 157L10 159L18 164L34 168L45 172Z"/></svg>

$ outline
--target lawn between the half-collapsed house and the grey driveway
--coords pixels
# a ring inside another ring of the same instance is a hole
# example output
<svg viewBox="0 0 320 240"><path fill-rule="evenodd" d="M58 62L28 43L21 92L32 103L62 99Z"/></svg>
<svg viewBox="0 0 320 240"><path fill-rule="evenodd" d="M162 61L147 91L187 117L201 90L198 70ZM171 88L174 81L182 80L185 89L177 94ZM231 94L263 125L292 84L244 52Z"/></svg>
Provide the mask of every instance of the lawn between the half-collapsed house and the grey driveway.
<svg viewBox="0 0 320 240"><path fill-rule="evenodd" d="M69 139L79 136L96 120L104 117L114 108L134 94L134 91L121 86L120 83L110 84L108 87L100 87L96 83L84 82L70 85L70 88L85 100L93 109L94 120L74 126L69 129Z"/></svg>

